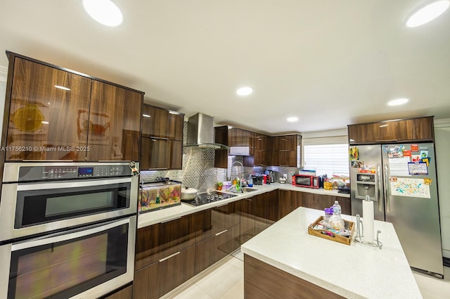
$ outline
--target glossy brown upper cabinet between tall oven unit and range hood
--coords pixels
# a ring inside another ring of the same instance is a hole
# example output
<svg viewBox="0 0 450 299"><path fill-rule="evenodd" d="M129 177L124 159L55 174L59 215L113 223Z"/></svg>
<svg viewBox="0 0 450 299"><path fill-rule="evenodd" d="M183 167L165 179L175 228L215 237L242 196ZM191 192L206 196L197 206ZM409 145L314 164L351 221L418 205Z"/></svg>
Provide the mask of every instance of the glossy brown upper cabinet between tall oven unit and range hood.
<svg viewBox="0 0 450 299"><path fill-rule="evenodd" d="M141 170L181 169L184 114L144 104L141 121Z"/></svg>

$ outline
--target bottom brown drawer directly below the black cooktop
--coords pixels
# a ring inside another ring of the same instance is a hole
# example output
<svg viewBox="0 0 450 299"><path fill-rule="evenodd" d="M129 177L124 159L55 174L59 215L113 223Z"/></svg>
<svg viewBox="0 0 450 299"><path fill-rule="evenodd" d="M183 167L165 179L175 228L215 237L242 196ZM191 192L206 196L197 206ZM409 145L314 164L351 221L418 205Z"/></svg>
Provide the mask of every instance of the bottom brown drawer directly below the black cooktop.
<svg viewBox="0 0 450 299"><path fill-rule="evenodd" d="M195 244L195 275L238 249L239 224Z"/></svg>

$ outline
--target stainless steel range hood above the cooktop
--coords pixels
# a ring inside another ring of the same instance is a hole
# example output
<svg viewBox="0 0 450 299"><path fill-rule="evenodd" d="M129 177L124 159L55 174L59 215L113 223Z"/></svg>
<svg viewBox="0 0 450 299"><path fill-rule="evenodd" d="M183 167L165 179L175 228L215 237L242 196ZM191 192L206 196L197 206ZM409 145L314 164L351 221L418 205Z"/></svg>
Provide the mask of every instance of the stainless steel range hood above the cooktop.
<svg viewBox="0 0 450 299"><path fill-rule="evenodd" d="M188 140L185 146L198 148L229 149L214 143L214 116L197 113L188 118Z"/></svg>

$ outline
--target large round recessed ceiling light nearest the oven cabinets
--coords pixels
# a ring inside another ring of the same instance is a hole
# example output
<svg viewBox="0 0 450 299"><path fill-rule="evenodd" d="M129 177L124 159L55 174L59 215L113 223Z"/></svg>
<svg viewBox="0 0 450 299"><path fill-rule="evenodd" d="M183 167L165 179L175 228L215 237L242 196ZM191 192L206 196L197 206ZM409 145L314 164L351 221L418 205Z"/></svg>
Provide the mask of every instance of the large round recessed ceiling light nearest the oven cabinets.
<svg viewBox="0 0 450 299"><path fill-rule="evenodd" d="M105 26L115 27L122 24L122 12L110 0L83 0L83 6L91 18Z"/></svg>

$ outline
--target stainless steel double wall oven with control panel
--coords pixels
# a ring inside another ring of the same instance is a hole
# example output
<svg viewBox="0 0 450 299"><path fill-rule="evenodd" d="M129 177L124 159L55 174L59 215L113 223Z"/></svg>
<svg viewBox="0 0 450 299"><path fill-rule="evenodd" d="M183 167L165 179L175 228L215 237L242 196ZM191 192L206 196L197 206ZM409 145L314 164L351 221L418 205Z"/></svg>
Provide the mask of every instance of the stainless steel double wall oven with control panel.
<svg viewBox="0 0 450 299"><path fill-rule="evenodd" d="M0 298L98 298L133 280L129 163L5 163Z"/></svg>

